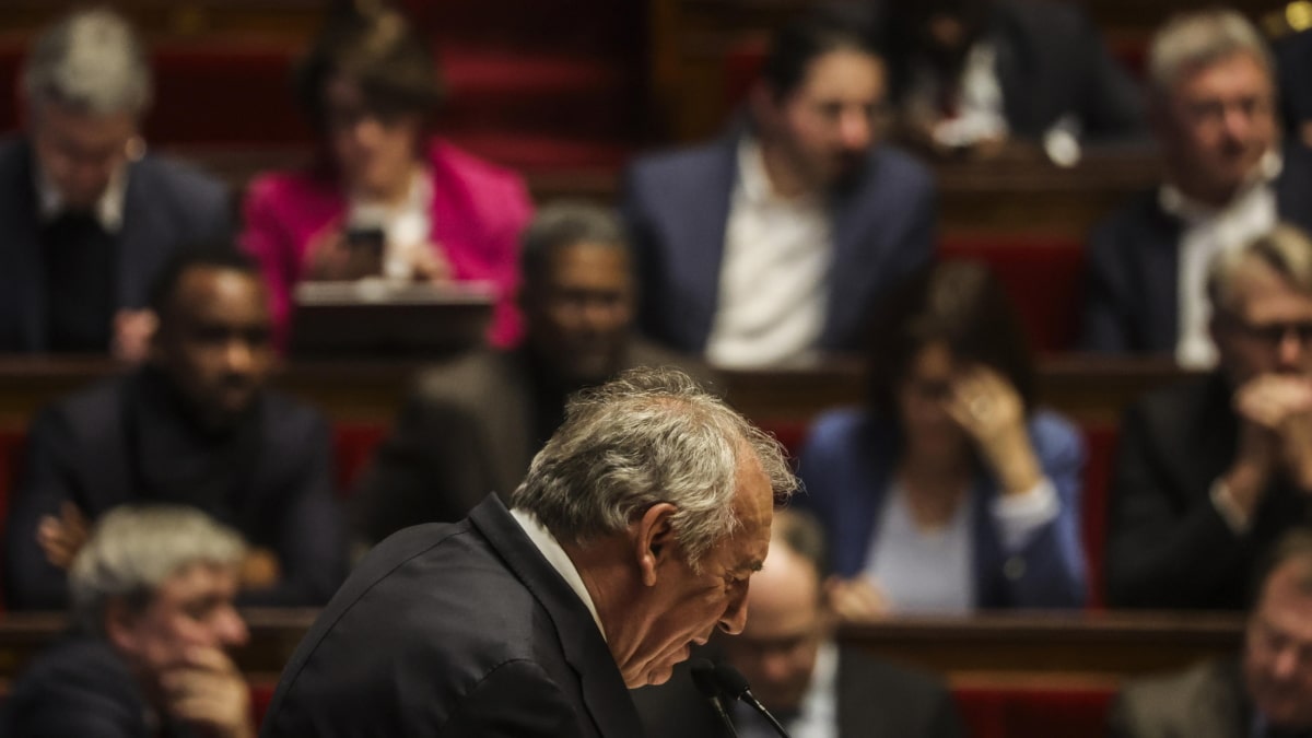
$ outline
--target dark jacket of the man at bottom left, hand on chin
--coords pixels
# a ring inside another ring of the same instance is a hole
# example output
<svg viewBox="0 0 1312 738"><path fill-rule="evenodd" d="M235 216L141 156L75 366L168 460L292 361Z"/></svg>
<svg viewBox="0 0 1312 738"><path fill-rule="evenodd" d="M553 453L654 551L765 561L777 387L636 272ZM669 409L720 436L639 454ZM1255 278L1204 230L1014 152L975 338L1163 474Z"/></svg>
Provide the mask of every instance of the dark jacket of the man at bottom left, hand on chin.
<svg viewBox="0 0 1312 738"><path fill-rule="evenodd" d="M39 655L0 712L0 735L18 738L185 738L193 733L147 724L136 678L105 641L72 638Z"/></svg>

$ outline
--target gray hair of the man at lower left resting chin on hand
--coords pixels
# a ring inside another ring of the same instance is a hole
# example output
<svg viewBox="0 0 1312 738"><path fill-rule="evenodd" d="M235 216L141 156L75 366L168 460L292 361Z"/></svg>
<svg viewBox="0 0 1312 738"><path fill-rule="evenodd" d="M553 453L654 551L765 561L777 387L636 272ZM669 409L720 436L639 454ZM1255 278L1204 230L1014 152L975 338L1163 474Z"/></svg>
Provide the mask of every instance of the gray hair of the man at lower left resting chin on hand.
<svg viewBox="0 0 1312 738"><path fill-rule="evenodd" d="M110 599L143 609L165 580L186 567L237 566L244 555L241 536L199 510L117 507L96 523L68 570L73 616L89 633L101 633Z"/></svg>

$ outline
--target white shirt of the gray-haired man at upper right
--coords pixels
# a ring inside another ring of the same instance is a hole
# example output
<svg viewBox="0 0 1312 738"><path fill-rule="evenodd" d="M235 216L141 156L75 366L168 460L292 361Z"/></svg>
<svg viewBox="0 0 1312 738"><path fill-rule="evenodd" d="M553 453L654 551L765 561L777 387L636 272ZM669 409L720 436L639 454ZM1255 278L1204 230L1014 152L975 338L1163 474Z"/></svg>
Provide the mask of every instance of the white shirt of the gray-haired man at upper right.
<svg viewBox="0 0 1312 738"><path fill-rule="evenodd" d="M1186 369L1211 369L1216 365L1216 347L1208 331L1207 271L1218 253L1241 248L1275 227L1278 214L1273 183L1282 167L1279 152L1269 151L1248 184L1220 209L1190 200L1172 184L1161 185L1157 193L1161 209L1183 223L1176 294L1179 306L1176 362Z"/></svg>

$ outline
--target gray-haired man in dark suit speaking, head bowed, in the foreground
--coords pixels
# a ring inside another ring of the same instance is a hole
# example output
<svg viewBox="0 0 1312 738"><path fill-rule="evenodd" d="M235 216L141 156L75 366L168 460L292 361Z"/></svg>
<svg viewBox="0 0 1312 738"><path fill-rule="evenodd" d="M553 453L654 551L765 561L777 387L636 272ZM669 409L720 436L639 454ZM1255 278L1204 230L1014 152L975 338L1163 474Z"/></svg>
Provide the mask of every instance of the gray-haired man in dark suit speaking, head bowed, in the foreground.
<svg viewBox="0 0 1312 738"><path fill-rule="evenodd" d="M642 735L660 683L747 620L778 444L670 369L576 395L506 510L407 528L283 670L264 735Z"/></svg>

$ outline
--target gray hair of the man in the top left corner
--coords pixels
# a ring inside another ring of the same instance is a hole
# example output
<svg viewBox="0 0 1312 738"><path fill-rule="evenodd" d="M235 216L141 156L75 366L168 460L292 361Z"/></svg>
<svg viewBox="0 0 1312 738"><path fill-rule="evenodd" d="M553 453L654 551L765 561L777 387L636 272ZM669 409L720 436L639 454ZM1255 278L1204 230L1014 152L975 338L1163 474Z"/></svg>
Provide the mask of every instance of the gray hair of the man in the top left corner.
<svg viewBox="0 0 1312 738"><path fill-rule="evenodd" d="M22 67L33 104L55 102L81 113L140 116L151 101L151 70L133 26L97 8L66 16L33 43Z"/></svg>

